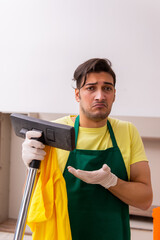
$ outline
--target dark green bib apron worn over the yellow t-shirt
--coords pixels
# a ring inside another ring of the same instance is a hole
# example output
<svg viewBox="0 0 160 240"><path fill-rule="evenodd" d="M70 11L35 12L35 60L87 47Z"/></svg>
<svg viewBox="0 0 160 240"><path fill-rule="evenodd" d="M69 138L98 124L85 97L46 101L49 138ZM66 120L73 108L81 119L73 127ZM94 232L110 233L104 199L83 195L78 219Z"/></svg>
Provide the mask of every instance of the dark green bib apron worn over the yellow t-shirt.
<svg viewBox="0 0 160 240"><path fill-rule="evenodd" d="M98 170L106 163L120 179L128 180L125 164L109 121L107 121L113 147L106 150L80 150L70 152L65 170L68 211L73 240L129 240L128 205L98 184L87 184L68 172L76 169ZM79 116L75 121L76 144Z"/></svg>

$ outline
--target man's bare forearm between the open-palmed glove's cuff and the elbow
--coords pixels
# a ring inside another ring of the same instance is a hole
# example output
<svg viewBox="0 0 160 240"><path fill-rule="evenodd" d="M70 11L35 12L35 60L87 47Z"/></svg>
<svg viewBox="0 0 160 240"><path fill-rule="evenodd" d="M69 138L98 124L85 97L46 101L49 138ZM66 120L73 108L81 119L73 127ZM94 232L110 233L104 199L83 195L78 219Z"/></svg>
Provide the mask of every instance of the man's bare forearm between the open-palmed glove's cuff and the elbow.
<svg viewBox="0 0 160 240"><path fill-rule="evenodd" d="M117 185L108 189L128 205L146 210L152 203L152 187L141 182L126 182L118 178Z"/></svg>

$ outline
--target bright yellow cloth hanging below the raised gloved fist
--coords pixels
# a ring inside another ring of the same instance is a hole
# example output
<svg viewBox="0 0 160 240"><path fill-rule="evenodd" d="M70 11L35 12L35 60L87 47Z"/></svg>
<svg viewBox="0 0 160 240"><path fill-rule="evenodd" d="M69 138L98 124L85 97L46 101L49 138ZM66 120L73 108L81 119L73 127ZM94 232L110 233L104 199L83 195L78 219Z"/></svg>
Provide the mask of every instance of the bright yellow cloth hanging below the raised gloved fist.
<svg viewBox="0 0 160 240"><path fill-rule="evenodd" d="M33 232L33 240L71 240L65 180L55 149L47 146L45 151L27 224Z"/></svg>

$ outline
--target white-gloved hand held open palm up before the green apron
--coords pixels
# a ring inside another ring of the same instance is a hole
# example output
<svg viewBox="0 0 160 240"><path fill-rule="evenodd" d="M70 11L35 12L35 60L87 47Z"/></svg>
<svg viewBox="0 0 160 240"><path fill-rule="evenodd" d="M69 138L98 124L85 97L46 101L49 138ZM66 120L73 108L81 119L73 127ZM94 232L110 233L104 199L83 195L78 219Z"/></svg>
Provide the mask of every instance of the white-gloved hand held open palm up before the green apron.
<svg viewBox="0 0 160 240"><path fill-rule="evenodd" d="M82 171L71 166L68 166L68 171L86 183L100 184L107 189L115 186L118 180L117 176L111 173L107 164L96 171Z"/></svg>

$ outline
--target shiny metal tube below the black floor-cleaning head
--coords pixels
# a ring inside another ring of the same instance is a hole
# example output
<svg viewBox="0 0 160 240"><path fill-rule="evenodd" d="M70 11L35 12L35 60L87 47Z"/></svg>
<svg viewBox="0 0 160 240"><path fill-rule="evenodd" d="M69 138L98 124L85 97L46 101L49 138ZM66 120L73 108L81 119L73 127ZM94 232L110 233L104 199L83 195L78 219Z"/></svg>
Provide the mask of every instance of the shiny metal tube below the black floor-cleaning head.
<svg viewBox="0 0 160 240"><path fill-rule="evenodd" d="M29 207L32 191L34 189L37 171L38 171L37 168L32 168L32 167L29 168L13 240L23 239L23 235L26 227L28 207Z"/></svg>

